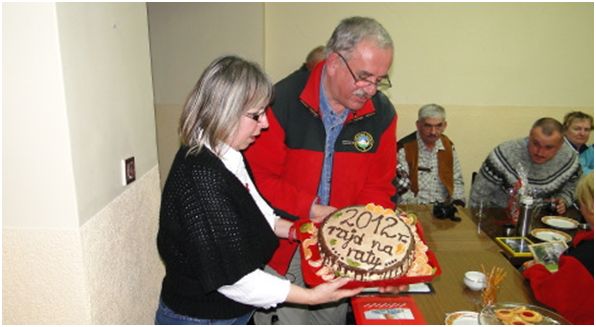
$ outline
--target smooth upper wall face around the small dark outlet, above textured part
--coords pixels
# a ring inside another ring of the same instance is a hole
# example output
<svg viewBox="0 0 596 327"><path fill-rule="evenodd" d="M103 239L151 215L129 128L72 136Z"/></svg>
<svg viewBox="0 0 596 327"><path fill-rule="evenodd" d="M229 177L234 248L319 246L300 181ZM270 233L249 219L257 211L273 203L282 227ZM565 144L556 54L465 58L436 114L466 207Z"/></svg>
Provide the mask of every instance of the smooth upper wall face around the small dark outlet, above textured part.
<svg viewBox="0 0 596 327"><path fill-rule="evenodd" d="M138 176L157 164L147 15L143 3L56 7L83 224L122 193L123 159Z"/></svg>

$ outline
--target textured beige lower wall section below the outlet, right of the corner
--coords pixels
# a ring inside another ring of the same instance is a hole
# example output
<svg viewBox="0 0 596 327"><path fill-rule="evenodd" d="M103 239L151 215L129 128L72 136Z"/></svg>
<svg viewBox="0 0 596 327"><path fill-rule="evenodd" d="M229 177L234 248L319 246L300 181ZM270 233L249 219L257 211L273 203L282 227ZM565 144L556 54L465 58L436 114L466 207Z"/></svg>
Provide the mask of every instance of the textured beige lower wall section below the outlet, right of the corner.
<svg viewBox="0 0 596 327"><path fill-rule="evenodd" d="M152 325L165 269L156 246L159 170L141 176L81 227L93 324Z"/></svg>

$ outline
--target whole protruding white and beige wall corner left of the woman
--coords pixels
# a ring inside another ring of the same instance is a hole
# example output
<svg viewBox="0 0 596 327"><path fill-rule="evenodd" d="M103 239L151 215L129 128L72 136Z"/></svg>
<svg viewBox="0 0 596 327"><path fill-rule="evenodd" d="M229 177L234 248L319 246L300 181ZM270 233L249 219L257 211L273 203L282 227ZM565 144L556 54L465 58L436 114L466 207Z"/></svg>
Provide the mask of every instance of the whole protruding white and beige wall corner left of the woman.
<svg viewBox="0 0 596 327"><path fill-rule="evenodd" d="M2 6L2 322L150 324L163 267L145 5Z"/></svg>

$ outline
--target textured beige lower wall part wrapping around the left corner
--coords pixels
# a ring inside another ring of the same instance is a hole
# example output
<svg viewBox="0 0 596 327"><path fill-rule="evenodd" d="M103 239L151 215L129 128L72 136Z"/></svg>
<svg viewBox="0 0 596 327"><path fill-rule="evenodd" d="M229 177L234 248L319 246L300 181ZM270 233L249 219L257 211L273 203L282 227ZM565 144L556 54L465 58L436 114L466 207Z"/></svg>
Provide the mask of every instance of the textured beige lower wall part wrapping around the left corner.
<svg viewBox="0 0 596 327"><path fill-rule="evenodd" d="M155 166L80 229L5 225L2 323L153 324L159 197Z"/></svg>

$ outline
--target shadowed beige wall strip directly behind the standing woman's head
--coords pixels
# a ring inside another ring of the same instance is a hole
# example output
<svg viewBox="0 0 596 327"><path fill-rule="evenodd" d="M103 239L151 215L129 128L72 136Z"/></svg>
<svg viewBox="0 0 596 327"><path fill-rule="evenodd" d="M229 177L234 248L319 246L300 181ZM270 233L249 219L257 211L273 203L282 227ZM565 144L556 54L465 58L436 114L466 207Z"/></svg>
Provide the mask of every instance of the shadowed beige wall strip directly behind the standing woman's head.
<svg viewBox="0 0 596 327"><path fill-rule="evenodd" d="M178 150L178 118L188 93L215 58L264 63L262 3L148 3L162 186Z"/></svg>

